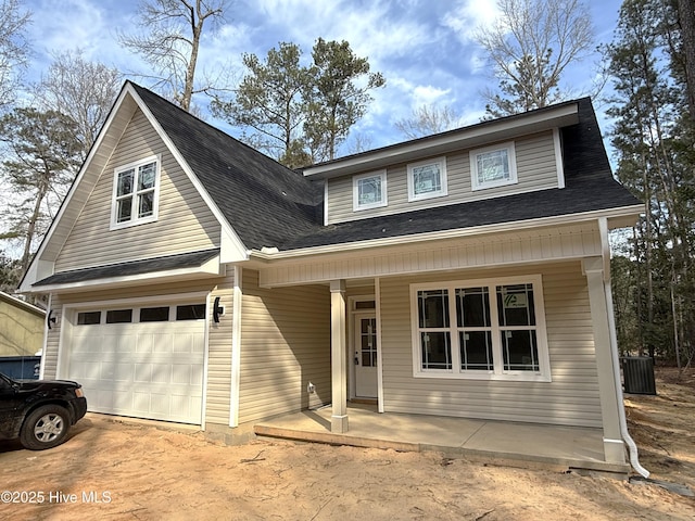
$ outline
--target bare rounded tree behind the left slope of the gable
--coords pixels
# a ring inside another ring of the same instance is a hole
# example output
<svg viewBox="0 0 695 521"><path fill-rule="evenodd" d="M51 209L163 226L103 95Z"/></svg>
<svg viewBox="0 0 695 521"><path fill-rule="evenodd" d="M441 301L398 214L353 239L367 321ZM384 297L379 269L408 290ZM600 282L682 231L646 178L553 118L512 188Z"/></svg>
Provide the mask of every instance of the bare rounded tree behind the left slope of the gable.
<svg viewBox="0 0 695 521"><path fill-rule="evenodd" d="M34 91L41 109L65 114L77 124L77 139L87 154L118 96L121 81L116 68L85 60L81 50L66 51L54 54Z"/></svg>

